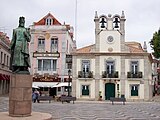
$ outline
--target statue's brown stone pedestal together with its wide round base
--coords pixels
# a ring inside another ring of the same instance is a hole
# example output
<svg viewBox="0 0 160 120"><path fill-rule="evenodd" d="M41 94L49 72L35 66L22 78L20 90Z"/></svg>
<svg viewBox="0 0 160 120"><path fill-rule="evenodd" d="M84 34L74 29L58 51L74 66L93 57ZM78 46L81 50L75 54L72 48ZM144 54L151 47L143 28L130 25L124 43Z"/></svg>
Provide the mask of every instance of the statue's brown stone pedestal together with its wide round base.
<svg viewBox="0 0 160 120"><path fill-rule="evenodd" d="M51 120L48 113L32 112L32 75L13 74L9 91L9 114L0 113L1 120Z"/></svg>

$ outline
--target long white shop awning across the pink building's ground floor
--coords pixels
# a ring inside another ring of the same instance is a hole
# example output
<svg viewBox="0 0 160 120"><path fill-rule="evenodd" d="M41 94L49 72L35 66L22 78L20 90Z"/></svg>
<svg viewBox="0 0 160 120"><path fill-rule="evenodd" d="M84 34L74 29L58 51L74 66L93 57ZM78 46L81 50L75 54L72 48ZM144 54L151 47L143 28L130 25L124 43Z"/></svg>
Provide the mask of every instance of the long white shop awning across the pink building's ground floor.
<svg viewBox="0 0 160 120"><path fill-rule="evenodd" d="M54 87L58 82L33 82L32 87Z"/></svg>

